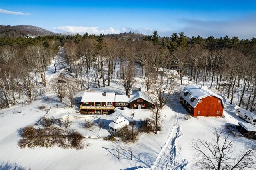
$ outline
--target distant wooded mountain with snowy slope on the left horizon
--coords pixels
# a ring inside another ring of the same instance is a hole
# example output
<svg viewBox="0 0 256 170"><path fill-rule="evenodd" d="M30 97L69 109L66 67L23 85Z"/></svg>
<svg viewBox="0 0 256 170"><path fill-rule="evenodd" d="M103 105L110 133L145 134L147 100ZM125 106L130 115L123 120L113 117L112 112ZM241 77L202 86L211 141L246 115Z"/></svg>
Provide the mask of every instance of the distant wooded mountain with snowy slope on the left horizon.
<svg viewBox="0 0 256 170"><path fill-rule="evenodd" d="M32 26L32 25L17 25L17 26L5 26L0 25L0 37L38 37L45 35L58 35L52 31Z"/></svg>

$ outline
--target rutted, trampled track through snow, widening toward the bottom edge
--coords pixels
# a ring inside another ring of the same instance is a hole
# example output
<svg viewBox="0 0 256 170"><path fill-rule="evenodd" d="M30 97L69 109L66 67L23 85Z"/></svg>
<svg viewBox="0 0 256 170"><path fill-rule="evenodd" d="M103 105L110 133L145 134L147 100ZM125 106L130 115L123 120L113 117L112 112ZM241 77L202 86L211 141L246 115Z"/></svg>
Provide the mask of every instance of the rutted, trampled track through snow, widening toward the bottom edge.
<svg viewBox="0 0 256 170"><path fill-rule="evenodd" d="M172 131L150 170L180 170L188 164L185 159L176 155L175 141L182 135L178 125L178 117L179 114L177 113Z"/></svg>

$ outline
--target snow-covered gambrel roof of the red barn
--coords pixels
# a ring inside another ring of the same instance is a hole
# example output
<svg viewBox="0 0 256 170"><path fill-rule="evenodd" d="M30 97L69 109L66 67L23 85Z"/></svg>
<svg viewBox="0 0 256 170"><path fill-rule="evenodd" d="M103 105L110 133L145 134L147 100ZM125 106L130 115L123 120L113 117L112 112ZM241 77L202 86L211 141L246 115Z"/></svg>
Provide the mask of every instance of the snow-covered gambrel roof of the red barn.
<svg viewBox="0 0 256 170"><path fill-rule="evenodd" d="M187 93L187 95L185 96L184 93ZM182 96L182 98L184 98L184 100L186 100L186 102L188 102L192 107L196 107L199 100L202 98L206 98L208 96L215 96L216 98L221 99L223 107L225 107L223 98L221 96L210 90L201 88L196 84L191 84L189 86L184 87L184 89L180 92L180 96ZM193 98L194 100L191 101L191 99Z"/></svg>

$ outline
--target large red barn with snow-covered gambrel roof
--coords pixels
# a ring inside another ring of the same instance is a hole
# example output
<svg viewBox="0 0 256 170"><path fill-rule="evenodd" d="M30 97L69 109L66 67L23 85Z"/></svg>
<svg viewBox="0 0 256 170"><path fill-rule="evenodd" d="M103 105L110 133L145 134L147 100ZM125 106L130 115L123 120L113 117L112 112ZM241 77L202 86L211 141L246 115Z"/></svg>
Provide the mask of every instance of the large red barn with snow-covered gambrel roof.
<svg viewBox="0 0 256 170"><path fill-rule="evenodd" d="M193 116L222 117L225 107L221 96L191 84L180 92L180 102Z"/></svg>

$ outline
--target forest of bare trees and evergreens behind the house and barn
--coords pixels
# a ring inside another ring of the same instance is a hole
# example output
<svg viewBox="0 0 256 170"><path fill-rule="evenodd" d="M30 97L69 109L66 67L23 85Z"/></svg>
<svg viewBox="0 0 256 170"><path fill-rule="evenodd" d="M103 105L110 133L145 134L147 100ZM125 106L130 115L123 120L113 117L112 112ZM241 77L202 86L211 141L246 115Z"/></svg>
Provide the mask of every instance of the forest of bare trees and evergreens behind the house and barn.
<svg viewBox="0 0 256 170"><path fill-rule="evenodd" d="M49 86L46 67L54 62L58 47L63 46L62 68L73 77L77 90L111 86L110 80L116 76L129 93L138 72L149 90L157 83L158 68L177 69L180 84L185 76L194 84L207 81L231 104L234 94L238 94L238 106L256 109L255 38L190 38L182 32L160 38L157 31L138 40L107 37L77 34L0 38L0 106L20 103L21 94L30 101L42 95ZM89 80L89 73L93 73L93 80Z"/></svg>

